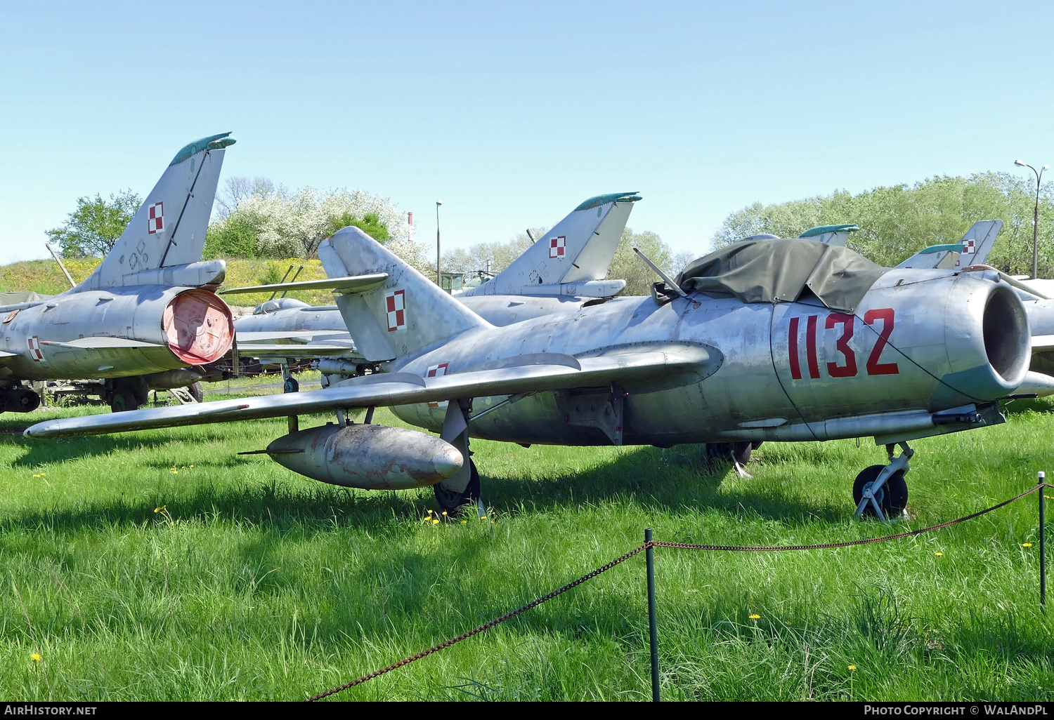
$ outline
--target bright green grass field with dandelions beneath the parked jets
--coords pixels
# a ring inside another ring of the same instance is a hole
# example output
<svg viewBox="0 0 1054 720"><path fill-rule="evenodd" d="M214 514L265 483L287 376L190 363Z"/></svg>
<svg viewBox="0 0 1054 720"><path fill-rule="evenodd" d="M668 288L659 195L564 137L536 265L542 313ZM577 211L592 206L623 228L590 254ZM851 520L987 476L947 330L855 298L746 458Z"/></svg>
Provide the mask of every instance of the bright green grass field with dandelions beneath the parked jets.
<svg viewBox="0 0 1054 720"><path fill-rule="evenodd" d="M236 455L284 434L285 420L20 435L100 409L0 418L3 699L302 699L548 593L639 545L648 526L660 540L720 544L889 532L851 519L853 478L883 461L867 441L766 443L753 479L707 468L698 447L479 441L489 517L434 524L430 488L346 491ZM1004 425L914 443L899 529L1054 471L1054 405L1014 409ZM377 421L397 424L379 411ZM860 547L660 548L664 698L1054 699L1037 528L1033 495ZM648 673L640 556L336 697L640 700Z"/></svg>

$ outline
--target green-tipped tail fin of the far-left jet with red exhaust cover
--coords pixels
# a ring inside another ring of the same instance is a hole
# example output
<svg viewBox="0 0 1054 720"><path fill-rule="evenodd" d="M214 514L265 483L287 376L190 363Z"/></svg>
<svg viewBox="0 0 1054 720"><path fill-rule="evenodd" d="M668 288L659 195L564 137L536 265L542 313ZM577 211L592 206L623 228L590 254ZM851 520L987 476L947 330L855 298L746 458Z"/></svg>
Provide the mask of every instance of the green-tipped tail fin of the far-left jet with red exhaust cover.
<svg viewBox="0 0 1054 720"><path fill-rule="evenodd" d="M198 261L216 198L223 148L234 142L230 133L222 133L180 149L113 249L78 287L209 284L217 273L222 281L222 261ZM187 267L195 263L198 266Z"/></svg>

